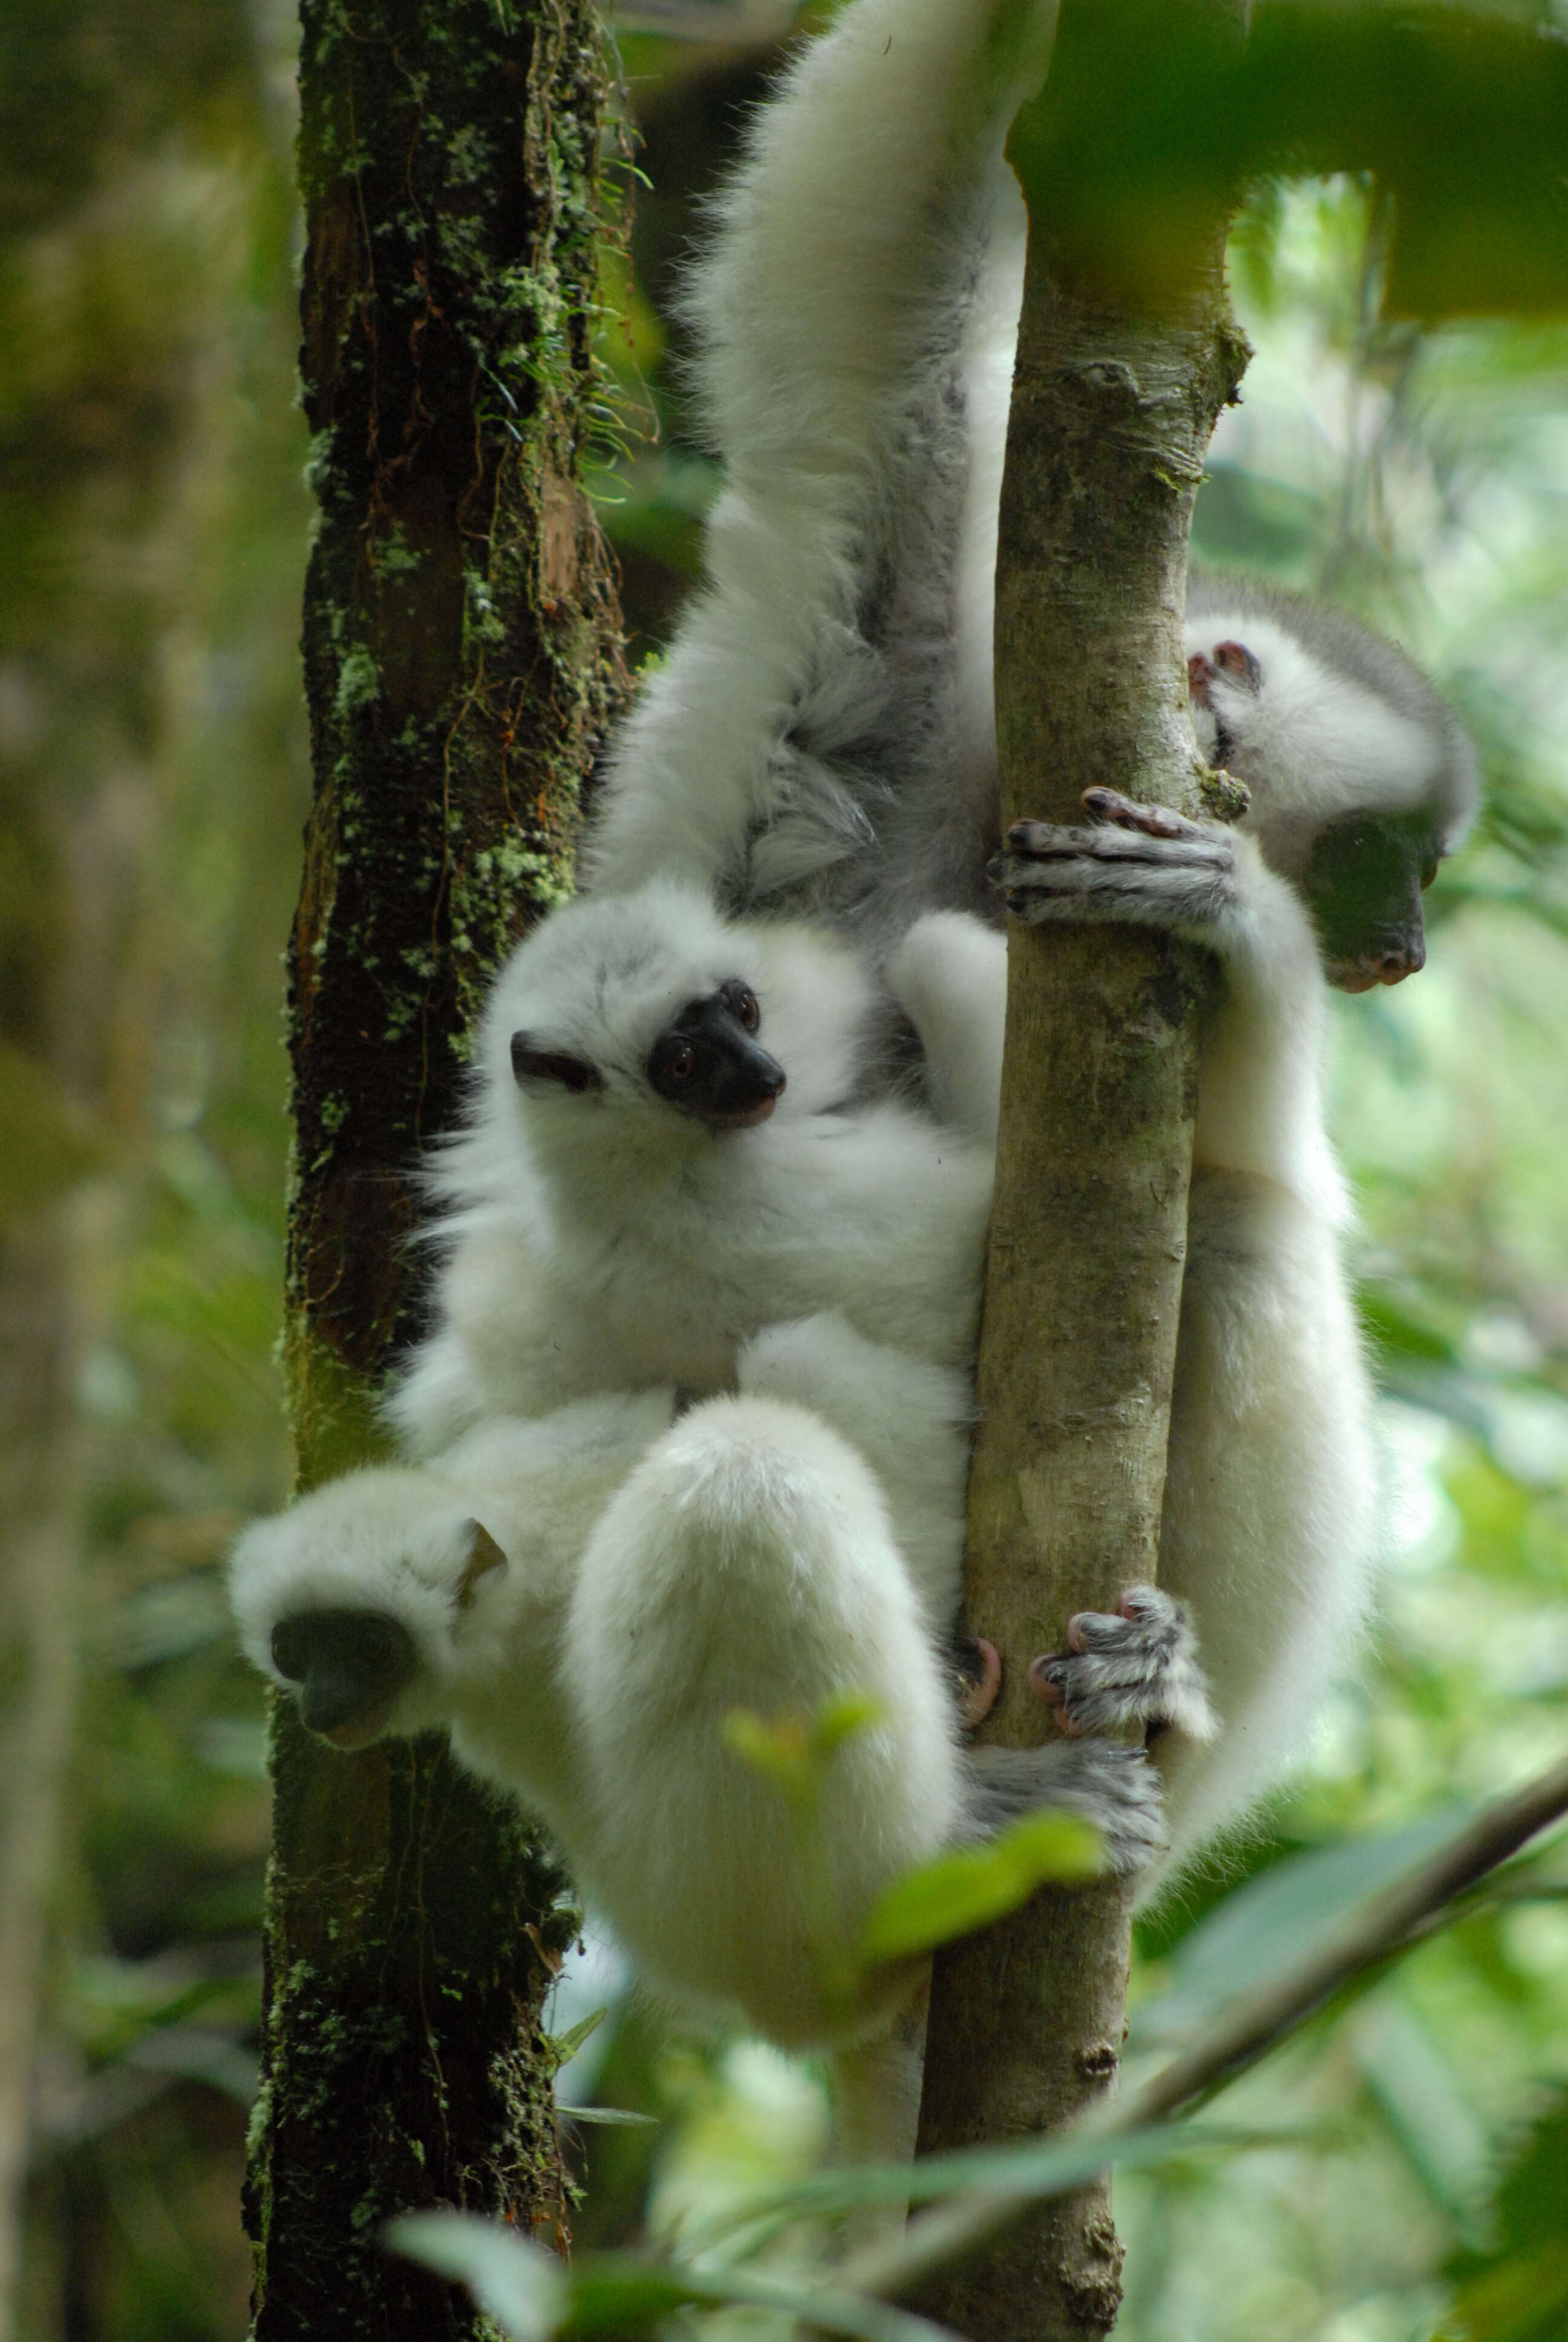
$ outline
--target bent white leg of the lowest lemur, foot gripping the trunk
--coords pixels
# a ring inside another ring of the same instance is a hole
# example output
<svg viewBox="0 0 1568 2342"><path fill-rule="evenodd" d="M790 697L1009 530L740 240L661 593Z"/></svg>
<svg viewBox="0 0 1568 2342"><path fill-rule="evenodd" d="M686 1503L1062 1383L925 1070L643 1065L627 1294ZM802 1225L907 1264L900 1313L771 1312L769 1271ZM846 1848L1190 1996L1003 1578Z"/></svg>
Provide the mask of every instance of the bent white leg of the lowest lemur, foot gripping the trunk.
<svg viewBox="0 0 1568 2342"><path fill-rule="evenodd" d="M649 1981L788 2047L898 2007L909 1977L855 1977L853 1946L877 1895L942 1845L1045 1803L1085 1813L1118 1869L1163 1843L1137 1752L959 1749L872 1473L778 1398L694 1408L626 1480L581 1560L563 1675L598 1815L588 1892ZM736 1712L783 1719L809 1752L855 1696L865 1721L823 1745L804 1801L727 1731Z"/></svg>

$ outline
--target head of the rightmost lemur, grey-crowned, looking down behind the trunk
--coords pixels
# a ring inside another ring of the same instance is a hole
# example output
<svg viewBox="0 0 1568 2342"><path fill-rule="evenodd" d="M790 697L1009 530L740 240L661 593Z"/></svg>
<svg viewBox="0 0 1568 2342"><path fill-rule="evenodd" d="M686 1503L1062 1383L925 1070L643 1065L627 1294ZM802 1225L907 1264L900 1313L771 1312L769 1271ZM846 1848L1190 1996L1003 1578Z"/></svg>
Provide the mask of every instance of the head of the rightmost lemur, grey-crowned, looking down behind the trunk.
<svg viewBox="0 0 1568 2342"><path fill-rule="evenodd" d="M1477 806L1453 710L1392 642L1249 578L1191 576L1198 745L1252 792L1242 820L1305 895L1341 991L1425 963L1420 895Z"/></svg>

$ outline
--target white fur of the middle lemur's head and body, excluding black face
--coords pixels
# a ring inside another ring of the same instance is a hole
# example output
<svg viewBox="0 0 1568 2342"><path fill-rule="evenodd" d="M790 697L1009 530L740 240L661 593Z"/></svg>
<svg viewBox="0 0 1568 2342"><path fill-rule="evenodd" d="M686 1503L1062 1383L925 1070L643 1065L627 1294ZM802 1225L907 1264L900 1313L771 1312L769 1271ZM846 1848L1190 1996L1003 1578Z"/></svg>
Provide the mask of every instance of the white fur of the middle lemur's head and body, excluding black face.
<svg viewBox="0 0 1568 2342"><path fill-rule="evenodd" d="M959 960L968 934L933 939L926 958L942 944ZM668 1019L729 979L755 991L757 1040L788 1089L762 1127L715 1134L645 1068ZM912 1452L926 1445L919 1422L935 1450L961 1443L991 1145L888 1098L851 1103L867 1007L848 946L722 920L691 888L555 911L495 986L471 1129L436 1173L448 1258L438 1330L391 1401L405 1445L429 1454L488 1415L591 1391L715 1393L734 1386L748 1337L823 1309L923 1361L930 1403L912 1415ZM591 1061L605 1087L520 1089L516 1030ZM954 1068L989 1047L956 1009L945 1038ZM898 1403L914 1408L907 1379L895 1363ZM945 1541L952 1609L961 1536Z"/></svg>

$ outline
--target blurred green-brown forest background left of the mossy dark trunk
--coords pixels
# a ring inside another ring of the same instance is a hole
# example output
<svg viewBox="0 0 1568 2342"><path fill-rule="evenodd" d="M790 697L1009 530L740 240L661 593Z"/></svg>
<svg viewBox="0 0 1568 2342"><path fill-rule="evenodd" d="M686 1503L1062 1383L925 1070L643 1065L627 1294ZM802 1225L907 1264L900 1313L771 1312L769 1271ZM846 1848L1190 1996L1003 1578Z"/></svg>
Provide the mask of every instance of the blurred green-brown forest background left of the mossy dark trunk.
<svg viewBox="0 0 1568 2342"><path fill-rule="evenodd" d="M63 1295L82 1684L19 2312L40 2342L244 2333L267 1796L220 1564L286 1490L286 37L244 0L0 16L0 1215L70 1185L87 1206Z"/></svg>

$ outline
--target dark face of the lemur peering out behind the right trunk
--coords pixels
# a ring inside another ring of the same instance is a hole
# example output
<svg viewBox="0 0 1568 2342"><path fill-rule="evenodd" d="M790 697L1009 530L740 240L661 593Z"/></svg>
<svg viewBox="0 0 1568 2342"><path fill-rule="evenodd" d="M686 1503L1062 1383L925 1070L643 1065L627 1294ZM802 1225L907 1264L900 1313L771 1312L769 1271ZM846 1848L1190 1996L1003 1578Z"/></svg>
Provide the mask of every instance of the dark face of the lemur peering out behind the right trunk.
<svg viewBox="0 0 1568 2342"><path fill-rule="evenodd" d="M1329 984L1369 993L1425 967L1420 890L1432 885L1437 860L1437 836L1420 813L1352 813L1320 834L1305 892Z"/></svg>

